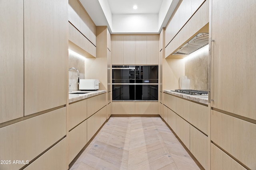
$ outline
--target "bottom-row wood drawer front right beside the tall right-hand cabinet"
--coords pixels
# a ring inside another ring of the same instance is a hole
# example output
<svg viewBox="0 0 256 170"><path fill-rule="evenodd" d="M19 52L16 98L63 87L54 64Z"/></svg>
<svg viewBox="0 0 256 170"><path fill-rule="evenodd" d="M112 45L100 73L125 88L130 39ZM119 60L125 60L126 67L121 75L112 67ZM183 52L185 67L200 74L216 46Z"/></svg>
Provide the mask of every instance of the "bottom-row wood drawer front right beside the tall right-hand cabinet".
<svg viewBox="0 0 256 170"><path fill-rule="evenodd" d="M208 137L190 125L190 152L204 169L208 168Z"/></svg>

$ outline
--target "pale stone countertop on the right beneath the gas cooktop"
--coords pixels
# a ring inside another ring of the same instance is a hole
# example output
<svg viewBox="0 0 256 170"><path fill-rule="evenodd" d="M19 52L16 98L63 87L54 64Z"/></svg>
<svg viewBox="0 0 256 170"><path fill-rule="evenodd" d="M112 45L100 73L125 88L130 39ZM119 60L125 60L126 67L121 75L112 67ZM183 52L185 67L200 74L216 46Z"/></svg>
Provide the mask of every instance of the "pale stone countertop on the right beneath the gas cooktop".
<svg viewBox="0 0 256 170"><path fill-rule="evenodd" d="M183 94L179 92L173 92L171 90L163 90L164 93L172 94L174 96L178 96L184 99L192 100L198 103L207 104L208 105L208 95L190 95Z"/></svg>

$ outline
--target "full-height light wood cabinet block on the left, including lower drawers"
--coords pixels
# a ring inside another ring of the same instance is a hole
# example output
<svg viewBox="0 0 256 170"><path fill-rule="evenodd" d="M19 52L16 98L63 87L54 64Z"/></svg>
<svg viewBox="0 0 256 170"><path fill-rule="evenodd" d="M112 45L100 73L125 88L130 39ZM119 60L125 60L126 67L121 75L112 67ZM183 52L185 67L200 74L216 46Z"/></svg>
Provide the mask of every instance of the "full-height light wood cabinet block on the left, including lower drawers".
<svg viewBox="0 0 256 170"><path fill-rule="evenodd" d="M0 1L1 170L67 169L67 4Z"/></svg>

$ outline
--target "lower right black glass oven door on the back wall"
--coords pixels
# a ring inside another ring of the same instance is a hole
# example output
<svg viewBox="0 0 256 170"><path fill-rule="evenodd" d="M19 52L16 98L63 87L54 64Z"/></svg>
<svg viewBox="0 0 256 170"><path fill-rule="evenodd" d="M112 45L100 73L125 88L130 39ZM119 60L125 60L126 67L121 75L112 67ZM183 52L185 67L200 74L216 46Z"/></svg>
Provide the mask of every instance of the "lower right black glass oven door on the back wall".
<svg viewBox="0 0 256 170"><path fill-rule="evenodd" d="M135 85L135 100L158 100L158 84L138 84Z"/></svg>

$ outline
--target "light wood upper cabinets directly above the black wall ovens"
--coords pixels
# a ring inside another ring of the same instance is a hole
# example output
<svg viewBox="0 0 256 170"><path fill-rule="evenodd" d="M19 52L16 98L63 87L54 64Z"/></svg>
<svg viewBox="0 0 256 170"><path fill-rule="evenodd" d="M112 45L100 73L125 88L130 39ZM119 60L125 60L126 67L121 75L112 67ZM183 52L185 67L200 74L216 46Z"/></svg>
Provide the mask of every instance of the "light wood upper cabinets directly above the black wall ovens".
<svg viewBox="0 0 256 170"><path fill-rule="evenodd" d="M112 35L112 64L158 64L159 35Z"/></svg>

